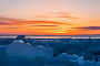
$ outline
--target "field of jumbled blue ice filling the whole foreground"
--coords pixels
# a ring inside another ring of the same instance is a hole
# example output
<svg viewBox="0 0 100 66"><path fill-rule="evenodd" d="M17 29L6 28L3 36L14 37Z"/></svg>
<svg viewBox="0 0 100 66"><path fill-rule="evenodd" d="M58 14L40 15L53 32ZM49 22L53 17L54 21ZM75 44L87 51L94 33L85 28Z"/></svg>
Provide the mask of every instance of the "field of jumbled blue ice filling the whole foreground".
<svg viewBox="0 0 100 66"><path fill-rule="evenodd" d="M100 66L100 40L14 40L0 58L0 66Z"/></svg>

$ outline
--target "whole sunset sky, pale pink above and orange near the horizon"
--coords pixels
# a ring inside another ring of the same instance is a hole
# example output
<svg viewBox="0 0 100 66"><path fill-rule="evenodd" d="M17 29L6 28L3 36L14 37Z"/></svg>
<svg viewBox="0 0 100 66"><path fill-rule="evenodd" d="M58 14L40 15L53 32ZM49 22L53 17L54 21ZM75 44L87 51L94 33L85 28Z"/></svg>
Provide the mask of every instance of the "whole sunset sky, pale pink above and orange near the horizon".
<svg viewBox="0 0 100 66"><path fill-rule="evenodd" d="M0 0L0 34L100 34L100 0Z"/></svg>

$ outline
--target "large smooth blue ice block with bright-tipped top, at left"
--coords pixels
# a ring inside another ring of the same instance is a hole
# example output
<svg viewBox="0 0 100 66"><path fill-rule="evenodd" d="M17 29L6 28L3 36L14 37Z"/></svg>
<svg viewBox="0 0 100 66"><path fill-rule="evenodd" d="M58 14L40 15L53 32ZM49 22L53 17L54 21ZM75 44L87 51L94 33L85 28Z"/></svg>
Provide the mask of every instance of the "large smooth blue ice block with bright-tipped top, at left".
<svg viewBox="0 0 100 66"><path fill-rule="evenodd" d="M30 44L26 44L23 41L13 41L11 44L9 44L7 47L7 54L12 66L13 63L14 65L19 66L19 62L21 62L21 66L24 65L24 62L31 65L39 65L49 63L53 58L53 52L51 48L43 46L34 47Z"/></svg>

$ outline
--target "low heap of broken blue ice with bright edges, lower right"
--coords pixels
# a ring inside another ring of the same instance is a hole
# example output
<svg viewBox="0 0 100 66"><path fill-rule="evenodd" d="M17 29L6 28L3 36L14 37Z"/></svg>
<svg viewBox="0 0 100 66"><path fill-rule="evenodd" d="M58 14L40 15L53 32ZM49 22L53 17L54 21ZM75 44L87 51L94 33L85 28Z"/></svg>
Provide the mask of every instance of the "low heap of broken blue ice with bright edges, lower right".
<svg viewBox="0 0 100 66"><path fill-rule="evenodd" d="M76 54L69 55L67 53L62 53L54 58L58 63L64 64L67 66L91 66L91 62L87 62L83 59L83 56L78 56Z"/></svg>

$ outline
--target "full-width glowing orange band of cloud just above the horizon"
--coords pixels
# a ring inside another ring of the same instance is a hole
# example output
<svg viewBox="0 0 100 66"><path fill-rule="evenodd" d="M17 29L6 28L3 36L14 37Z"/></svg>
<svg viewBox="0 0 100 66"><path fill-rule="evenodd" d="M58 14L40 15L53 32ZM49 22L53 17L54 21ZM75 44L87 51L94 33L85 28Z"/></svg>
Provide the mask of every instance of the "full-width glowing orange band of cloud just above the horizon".
<svg viewBox="0 0 100 66"><path fill-rule="evenodd" d="M96 31L94 31L96 30ZM73 28L61 21L0 18L0 34L77 35L100 34L100 26Z"/></svg>

